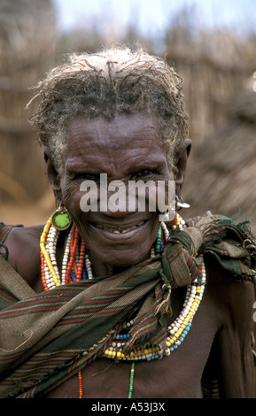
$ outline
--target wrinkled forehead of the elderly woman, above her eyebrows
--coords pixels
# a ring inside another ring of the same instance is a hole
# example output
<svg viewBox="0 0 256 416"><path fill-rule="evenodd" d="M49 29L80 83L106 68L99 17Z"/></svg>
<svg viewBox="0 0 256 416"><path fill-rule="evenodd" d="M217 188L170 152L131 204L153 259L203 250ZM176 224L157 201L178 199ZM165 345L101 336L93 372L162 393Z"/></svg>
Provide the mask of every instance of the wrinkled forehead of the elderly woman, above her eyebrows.
<svg viewBox="0 0 256 416"><path fill-rule="evenodd" d="M158 119L151 112L120 114L112 120L77 116L69 120L66 135L67 155L74 150L156 151L162 143Z"/></svg>

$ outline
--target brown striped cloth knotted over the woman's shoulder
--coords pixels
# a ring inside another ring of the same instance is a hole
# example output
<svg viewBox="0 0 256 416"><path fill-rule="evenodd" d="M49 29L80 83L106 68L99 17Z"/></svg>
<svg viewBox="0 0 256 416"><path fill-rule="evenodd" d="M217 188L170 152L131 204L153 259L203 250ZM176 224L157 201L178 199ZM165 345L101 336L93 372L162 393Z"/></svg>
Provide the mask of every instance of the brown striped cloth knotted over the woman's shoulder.
<svg viewBox="0 0 256 416"><path fill-rule="evenodd" d="M187 221L161 258L104 278L35 294L0 256L0 397L40 397L101 357L134 319L126 352L167 336L171 289L198 277L202 256L255 281L256 244L245 223L221 216Z"/></svg>

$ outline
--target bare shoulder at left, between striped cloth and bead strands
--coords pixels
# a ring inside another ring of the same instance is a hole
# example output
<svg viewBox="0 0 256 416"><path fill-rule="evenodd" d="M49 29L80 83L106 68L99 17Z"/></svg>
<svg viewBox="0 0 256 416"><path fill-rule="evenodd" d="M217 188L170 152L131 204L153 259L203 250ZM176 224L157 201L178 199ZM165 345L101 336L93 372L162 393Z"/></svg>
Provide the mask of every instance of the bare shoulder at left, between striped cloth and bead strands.
<svg viewBox="0 0 256 416"><path fill-rule="evenodd" d="M40 276L40 236L43 225L13 227L4 244L8 262L34 288Z"/></svg>

